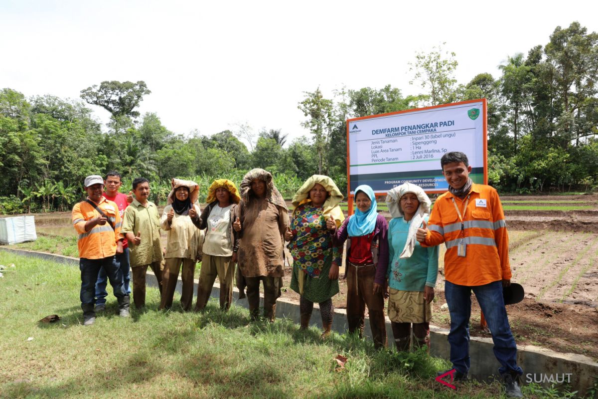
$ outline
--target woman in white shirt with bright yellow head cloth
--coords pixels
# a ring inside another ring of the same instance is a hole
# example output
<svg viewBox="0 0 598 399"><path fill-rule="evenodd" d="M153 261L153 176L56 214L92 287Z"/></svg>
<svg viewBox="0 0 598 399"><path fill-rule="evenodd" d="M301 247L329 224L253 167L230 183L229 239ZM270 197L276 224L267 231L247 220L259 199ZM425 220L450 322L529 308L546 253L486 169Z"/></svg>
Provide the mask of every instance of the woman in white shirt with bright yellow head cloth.
<svg viewBox="0 0 598 399"><path fill-rule="evenodd" d="M239 191L233 182L216 179L208 188L208 206L202 215L191 215L191 221L206 231L203 242L202 270L197 284L197 303L195 310L202 310L212 293L216 276L220 283L220 309L228 310L233 300L234 264L237 261L236 232L233 230L231 215L239 203Z"/></svg>

